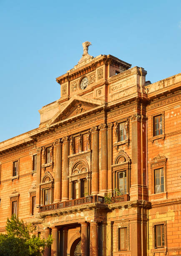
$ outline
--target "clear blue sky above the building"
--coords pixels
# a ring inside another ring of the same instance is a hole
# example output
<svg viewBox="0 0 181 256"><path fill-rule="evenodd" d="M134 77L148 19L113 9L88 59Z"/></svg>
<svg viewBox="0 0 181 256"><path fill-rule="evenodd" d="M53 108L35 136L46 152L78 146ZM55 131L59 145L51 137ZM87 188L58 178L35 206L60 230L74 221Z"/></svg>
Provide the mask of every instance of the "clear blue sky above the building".
<svg viewBox="0 0 181 256"><path fill-rule="evenodd" d="M38 127L91 41L156 82L181 72L181 0L0 0L0 141Z"/></svg>

